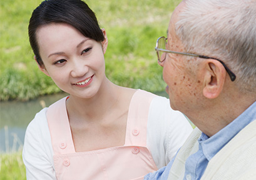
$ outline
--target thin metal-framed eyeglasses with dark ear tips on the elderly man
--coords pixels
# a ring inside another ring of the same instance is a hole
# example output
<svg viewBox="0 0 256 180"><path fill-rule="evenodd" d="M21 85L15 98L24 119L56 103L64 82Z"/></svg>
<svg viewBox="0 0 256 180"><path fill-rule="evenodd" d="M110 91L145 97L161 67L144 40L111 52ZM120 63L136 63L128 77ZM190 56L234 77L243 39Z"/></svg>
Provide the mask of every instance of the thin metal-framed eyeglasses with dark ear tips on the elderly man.
<svg viewBox="0 0 256 180"><path fill-rule="evenodd" d="M231 81L235 80L235 73L233 73L230 69L228 69L228 67L224 64L224 62L222 62L222 60L216 59L214 57L208 57L206 55L198 55L198 54L190 54L190 53L186 53L186 52L176 52L173 50L166 50L165 49L165 45L167 43L166 40L167 40L167 38L165 38L164 36L159 37L156 40L155 50L156 50L156 54L157 54L159 62L163 62L165 60L166 53L189 55L189 56L193 56L193 57L200 57L203 59L215 59L215 60L218 60L218 62L220 62L223 65L223 67L225 67L225 70L227 70L227 73L230 76Z"/></svg>

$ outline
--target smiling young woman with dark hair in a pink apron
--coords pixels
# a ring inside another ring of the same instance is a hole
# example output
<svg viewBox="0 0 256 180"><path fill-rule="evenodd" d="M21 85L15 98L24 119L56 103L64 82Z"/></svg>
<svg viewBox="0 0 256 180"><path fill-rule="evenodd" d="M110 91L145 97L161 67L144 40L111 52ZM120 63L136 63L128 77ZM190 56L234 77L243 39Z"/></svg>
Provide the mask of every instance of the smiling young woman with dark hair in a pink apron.
<svg viewBox="0 0 256 180"><path fill-rule="evenodd" d="M168 99L106 78L106 31L83 1L43 1L31 16L29 40L39 69L69 96L29 124L27 179L143 179L192 131Z"/></svg>

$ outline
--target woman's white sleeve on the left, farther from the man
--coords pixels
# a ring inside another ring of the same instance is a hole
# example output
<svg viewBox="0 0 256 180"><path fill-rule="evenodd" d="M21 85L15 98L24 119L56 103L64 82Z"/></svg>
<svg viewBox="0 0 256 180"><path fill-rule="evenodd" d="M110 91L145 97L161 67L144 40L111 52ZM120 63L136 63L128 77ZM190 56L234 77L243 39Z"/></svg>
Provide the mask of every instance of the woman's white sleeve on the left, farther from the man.
<svg viewBox="0 0 256 180"><path fill-rule="evenodd" d="M48 122L47 108L36 114L26 130L23 161L27 179L56 180L53 164L53 148Z"/></svg>

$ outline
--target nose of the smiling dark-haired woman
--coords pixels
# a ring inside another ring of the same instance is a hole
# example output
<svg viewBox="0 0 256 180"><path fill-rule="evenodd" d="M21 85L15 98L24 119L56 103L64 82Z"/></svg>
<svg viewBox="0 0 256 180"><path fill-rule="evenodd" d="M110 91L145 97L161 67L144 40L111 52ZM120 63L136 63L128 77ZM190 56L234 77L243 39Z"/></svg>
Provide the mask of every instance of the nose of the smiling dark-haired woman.
<svg viewBox="0 0 256 180"><path fill-rule="evenodd" d="M88 70L89 70L88 65L84 64L83 61L75 60L72 66L71 76L83 77L88 72Z"/></svg>

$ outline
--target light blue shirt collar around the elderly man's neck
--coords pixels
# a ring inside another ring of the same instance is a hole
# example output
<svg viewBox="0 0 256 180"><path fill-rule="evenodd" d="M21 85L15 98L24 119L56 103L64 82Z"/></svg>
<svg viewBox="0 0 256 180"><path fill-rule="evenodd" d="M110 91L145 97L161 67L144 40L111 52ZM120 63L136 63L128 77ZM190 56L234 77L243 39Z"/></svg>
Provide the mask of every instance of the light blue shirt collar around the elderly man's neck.
<svg viewBox="0 0 256 180"><path fill-rule="evenodd" d="M205 133L202 133L198 143L202 147L203 154L205 154L208 161L253 120L256 120L256 102L212 137L209 138Z"/></svg>

